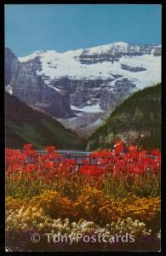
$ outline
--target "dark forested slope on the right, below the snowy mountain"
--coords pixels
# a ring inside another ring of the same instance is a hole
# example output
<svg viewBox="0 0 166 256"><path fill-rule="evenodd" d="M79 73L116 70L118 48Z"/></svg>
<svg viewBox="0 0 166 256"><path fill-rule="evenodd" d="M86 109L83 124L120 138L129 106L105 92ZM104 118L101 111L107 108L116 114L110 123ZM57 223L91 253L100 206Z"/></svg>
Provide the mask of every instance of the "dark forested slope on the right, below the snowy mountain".
<svg viewBox="0 0 166 256"><path fill-rule="evenodd" d="M115 139L141 147L160 147L161 84L135 92L89 137L88 149L110 148Z"/></svg>

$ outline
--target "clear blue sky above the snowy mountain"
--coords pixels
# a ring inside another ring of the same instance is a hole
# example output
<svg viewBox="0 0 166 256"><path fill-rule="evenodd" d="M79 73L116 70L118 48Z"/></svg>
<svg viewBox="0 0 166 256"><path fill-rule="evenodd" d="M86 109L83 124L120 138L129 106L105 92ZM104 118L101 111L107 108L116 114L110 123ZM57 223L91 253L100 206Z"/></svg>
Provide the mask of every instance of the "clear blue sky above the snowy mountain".
<svg viewBox="0 0 166 256"><path fill-rule="evenodd" d="M7 4L5 44L17 56L123 41L161 44L159 4Z"/></svg>

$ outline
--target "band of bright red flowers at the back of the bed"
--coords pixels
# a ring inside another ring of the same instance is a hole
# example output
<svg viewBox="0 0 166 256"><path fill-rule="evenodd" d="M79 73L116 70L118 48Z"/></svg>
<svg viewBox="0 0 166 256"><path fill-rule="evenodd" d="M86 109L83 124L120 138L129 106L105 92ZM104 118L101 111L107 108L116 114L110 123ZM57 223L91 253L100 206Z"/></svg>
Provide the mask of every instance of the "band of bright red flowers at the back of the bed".
<svg viewBox="0 0 166 256"><path fill-rule="evenodd" d="M94 158L96 165L89 165L86 160L84 166L78 166L75 160L63 159L56 152L54 146L46 147L47 154L40 155L31 149L31 144L24 146L25 151L6 148L6 173L11 177L43 178L52 182L54 178L66 178L73 181L75 174L81 175L83 184L89 181L100 183L103 177L113 174L114 177L132 177L152 172L154 175L160 172L161 153L160 150L152 150L152 155L146 151L138 151L137 147L131 145L126 154L120 154L123 150L122 141L117 141L115 149L95 151L90 157ZM92 162L92 160L91 160ZM89 178L90 177L90 178Z"/></svg>

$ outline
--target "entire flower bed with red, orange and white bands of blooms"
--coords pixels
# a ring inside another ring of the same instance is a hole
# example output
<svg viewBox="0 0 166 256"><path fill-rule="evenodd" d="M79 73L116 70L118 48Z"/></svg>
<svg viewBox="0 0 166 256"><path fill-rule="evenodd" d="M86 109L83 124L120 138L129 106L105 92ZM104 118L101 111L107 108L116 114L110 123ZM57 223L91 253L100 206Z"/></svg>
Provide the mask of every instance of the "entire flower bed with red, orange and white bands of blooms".
<svg viewBox="0 0 166 256"><path fill-rule="evenodd" d="M35 231L41 237L44 232L66 234L73 241L79 233L90 236L128 233L135 236L135 245L131 243L128 248L159 247L159 150L147 153L130 146L122 154L123 143L118 141L112 152L102 150L90 155L98 159L97 166L87 163L77 166L74 160L60 159L54 147L46 149L48 154L45 155L37 154L31 145L25 145L24 152L6 150L9 244L20 244L20 239L25 240L20 247L31 247L26 238ZM31 163L27 159L31 159ZM99 242L96 248L97 244ZM119 244L125 247L122 241L109 246L101 244L101 250L118 250ZM37 249L34 244L32 247ZM72 249L68 244L65 247ZM76 247L84 248L85 244L79 241ZM89 245L89 250L92 248L94 245ZM59 249L49 245L49 250Z"/></svg>

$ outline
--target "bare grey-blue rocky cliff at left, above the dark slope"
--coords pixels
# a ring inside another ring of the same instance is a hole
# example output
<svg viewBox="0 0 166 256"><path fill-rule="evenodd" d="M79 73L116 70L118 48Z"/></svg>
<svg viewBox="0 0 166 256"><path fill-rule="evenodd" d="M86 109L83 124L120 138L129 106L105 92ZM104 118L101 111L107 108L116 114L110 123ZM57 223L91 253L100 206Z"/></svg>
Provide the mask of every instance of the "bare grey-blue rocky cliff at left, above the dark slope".
<svg viewBox="0 0 166 256"><path fill-rule="evenodd" d="M20 63L9 49L6 49L5 54L5 82L7 89L11 88L14 96L52 116L73 116L68 91L55 90L37 76L36 71L41 68L38 58L35 59L34 65L34 61Z"/></svg>

